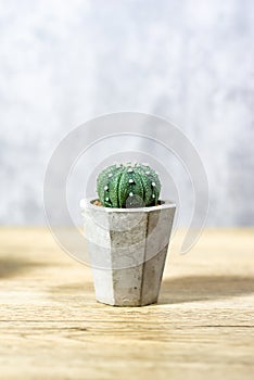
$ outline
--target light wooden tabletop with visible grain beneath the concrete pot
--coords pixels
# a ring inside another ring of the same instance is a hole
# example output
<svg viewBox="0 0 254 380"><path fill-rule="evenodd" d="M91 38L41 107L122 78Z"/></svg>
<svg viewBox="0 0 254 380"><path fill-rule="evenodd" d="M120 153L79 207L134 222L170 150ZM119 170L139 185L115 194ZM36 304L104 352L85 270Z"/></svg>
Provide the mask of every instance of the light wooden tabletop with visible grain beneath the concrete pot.
<svg viewBox="0 0 254 380"><path fill-rule="evenodd" d="M45 229L0 229L0 379L253 379L254 230L173 240L160 303L94 301Z"/></svg>

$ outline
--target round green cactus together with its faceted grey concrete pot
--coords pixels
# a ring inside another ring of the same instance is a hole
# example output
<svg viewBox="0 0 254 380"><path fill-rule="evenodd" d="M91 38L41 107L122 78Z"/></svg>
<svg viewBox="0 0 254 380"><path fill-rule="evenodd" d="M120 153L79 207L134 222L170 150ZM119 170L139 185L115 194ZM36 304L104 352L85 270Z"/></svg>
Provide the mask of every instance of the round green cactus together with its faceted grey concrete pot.
<svg viewBox="0 0 254 380"><path fill-rule="evenodd" d="M99 199L81 200L99 302L157 302L176 210L160 200L160 178L148 164L115 164L98 176Z"/></svg>

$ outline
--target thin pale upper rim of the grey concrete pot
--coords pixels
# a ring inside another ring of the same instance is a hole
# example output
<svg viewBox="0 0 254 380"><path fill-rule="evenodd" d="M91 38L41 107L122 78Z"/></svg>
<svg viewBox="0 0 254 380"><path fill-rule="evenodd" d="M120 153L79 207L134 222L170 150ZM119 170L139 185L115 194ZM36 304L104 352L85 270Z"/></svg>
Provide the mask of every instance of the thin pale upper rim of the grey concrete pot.
<svg viewBox="0 0 254 380"><path fill-rule="evenodd" d="M160 211L165 208L176 208L176 203L169 200L160 200L160 202L164 202L162 204L158 204L156 206L145 206L145 207L134 207L134 208L117 208L117 207L104 207L104 206L97 206L96 204L92 204L92 202L97 201L98 198L90 197L86 199L80 200L80 208L91 208L97 211L104 211L106 213L149 213L151 211Z"/></svg>

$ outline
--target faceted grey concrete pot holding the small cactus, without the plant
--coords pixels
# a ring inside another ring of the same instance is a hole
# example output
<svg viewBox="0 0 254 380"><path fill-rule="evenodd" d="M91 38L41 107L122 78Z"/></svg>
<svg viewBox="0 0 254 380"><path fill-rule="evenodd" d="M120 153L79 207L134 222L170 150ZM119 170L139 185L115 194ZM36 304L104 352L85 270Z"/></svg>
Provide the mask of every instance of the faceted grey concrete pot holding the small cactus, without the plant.
<svg viewBox="0 0 254 380"><path fill-rule="evenodd" d="M96 297L115 306L157 302L176 205L109 208L82 200Z"/></svg>

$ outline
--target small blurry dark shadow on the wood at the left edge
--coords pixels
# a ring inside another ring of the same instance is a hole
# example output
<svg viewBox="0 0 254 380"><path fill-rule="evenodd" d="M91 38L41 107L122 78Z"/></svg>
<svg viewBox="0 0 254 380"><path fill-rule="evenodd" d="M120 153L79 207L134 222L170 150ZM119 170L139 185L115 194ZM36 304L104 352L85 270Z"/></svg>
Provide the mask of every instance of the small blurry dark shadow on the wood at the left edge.
<svg viewBox="0 0 254 380"><path fill-rule="evenodd" d="M45 266L43 263L27 262L17 257L0 257L0 281L24 274L35 267Z"/></svg>

